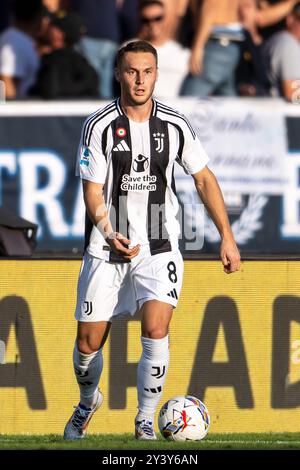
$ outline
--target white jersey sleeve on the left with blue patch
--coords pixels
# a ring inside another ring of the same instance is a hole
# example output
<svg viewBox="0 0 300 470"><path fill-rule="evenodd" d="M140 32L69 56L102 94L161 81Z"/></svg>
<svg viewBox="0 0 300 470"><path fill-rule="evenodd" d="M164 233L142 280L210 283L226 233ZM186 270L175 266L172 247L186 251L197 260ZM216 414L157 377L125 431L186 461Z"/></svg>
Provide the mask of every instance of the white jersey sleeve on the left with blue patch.
<svg viewBox="0 0 300 470"><path fill-rule="evenodd" d="M77 152L76 176L94 183L104 184L107 161L102 149L102 131L97 126L90 138L86 138L86 123L83 126Z"/></svg>

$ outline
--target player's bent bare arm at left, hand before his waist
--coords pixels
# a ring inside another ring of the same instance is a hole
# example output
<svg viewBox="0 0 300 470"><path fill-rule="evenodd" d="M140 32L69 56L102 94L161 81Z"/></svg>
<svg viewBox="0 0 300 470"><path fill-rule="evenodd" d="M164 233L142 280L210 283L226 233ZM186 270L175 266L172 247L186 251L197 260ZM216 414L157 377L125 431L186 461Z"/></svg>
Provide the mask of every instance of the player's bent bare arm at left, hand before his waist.
<svg viewBox="0 0 300 470"><path fill-rule="evenodd" d="M130 240L113 231L103 196L103 185L83 180L83 197L88 216L105 238L112 251L126 260L131 260L140 251L139 245L128 248Z"/></svg>

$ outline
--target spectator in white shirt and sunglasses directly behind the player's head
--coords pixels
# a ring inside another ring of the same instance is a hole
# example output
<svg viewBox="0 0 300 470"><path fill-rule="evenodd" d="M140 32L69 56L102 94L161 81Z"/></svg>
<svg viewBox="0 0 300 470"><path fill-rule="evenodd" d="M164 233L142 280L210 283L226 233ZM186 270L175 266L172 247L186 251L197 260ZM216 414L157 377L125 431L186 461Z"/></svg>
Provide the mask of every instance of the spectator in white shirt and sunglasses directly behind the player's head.
<svg viewBox="0 0 300 470"><path fill-rule="evenodd" d="M142 0L139 17L138 39L150 42L158 54L159 78L155 95L175 98L188 70L190 52L169 37L165 28L165 5L161 0Z"/></svg>

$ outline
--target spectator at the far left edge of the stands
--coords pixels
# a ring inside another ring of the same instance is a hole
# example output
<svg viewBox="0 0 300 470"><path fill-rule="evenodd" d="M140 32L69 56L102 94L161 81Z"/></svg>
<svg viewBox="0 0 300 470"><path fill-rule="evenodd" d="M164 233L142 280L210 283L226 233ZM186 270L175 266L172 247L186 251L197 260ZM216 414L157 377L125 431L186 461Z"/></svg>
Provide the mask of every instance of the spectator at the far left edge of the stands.
<svg viewBox="0 0 300 470"><path fill-rule="evenodd" d="M41 9L41 0L15 0L14 25L0 36L0 79L5 83L7 99L24 98L35 83Z"/></svg>

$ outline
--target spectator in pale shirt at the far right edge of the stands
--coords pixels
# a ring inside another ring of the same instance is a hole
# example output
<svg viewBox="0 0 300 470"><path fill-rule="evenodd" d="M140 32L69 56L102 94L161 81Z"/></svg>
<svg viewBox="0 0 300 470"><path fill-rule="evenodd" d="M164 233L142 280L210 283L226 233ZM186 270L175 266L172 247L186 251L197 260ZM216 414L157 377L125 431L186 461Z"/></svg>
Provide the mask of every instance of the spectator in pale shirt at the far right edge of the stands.
<svg viewBox="0 0 300 470"><path fill-rule="evenodd" d="M286 30L266 41L264 53L273 94L293 101L300 84L300 2L287 16Z"/></svg>

